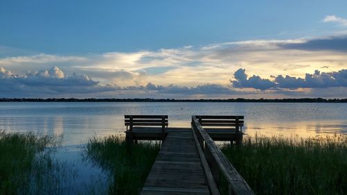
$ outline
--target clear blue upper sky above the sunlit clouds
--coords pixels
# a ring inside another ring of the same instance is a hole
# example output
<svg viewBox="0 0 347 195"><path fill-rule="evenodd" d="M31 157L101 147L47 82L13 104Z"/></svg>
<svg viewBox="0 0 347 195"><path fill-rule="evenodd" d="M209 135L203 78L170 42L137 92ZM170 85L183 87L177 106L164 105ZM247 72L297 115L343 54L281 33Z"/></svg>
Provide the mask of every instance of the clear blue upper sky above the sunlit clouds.
<svg viewBox="0 0 347 195"><path fill-rule="evenodd" d="M284 3L285 2L285 3ZM346 1L7 1L0 42L44 53L103 53L329 31Z"/></svg>

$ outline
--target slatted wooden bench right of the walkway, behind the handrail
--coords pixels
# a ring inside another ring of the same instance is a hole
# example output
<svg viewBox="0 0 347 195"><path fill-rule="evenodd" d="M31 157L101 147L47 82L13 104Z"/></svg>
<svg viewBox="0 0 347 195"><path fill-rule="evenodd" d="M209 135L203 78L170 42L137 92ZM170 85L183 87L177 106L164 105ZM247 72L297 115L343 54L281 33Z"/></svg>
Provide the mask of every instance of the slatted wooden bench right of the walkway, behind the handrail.
<svg viewBox="0 0 347 195"><path fill-rule="evenodd" d="M196 115L198 122L216 141L242 141L244 116Z"/></svg>

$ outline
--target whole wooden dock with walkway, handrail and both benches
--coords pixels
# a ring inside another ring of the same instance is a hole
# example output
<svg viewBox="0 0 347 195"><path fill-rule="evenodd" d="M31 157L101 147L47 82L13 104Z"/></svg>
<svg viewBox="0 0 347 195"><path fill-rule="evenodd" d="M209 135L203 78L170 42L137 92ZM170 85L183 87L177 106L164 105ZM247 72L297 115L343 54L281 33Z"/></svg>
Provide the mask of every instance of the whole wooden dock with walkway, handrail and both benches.
<svg viewBox="0 0 347 195"><path fill-rule="evenodd" d="M219 195L221 178L228 191L226 194L254 195L214 143L240 144L243 133L239 128L244 125L243 116L192 116L192 128L168 128L167 115L125 115L124 118L129 143L162 140L142 195Z"/></svg>

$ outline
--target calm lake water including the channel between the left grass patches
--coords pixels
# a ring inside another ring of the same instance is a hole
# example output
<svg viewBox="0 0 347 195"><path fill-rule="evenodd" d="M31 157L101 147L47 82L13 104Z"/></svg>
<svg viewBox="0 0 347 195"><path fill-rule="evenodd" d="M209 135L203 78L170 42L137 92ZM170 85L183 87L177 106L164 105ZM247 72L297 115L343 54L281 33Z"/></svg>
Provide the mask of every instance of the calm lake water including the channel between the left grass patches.
<svg viewBox="0 0 347 195"><path fill-rule="evenodd" d="M169 126L181 127L190 126L192 115L244 115L247 135L347 134L347 103L0 103L0 130L63 135L55 158L76 175L62 194L85 194L91 187L103 194L108 173L83 160L83 144L123 133L124 115L169 115Z"/></svg>

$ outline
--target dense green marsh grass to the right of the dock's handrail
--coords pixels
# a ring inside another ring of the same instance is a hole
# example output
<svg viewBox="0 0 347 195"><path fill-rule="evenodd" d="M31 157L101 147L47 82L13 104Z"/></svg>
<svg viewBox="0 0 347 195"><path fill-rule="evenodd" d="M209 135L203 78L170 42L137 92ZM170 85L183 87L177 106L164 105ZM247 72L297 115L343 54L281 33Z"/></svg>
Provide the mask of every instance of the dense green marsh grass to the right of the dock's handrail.
<svg viewBox="0 0 347 195"><path fill-rule="evenodd" d="M221 150L255 194L347 194L346 135L255 135Z"/></svg>

